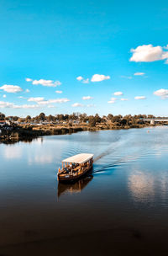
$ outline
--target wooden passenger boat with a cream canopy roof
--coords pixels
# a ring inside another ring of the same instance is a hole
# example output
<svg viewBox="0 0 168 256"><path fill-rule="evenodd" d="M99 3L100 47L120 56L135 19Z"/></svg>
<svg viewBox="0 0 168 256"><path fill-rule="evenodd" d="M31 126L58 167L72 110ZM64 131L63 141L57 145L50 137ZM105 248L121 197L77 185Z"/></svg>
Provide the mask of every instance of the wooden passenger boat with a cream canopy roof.
<svg viewBox="0 0 168 256"><path fill-rule="evenodd" d="M60 182L73 182L92 169L93 154L77 154L62 161L57 177Z"/></svg>

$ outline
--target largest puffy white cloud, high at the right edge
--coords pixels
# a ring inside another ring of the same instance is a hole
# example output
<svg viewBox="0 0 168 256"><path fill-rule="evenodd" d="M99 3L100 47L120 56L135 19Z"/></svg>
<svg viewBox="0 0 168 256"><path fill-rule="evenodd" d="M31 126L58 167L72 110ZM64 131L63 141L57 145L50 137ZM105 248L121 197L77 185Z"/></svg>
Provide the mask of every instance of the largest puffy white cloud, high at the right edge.
<svg viewBox="0 0 168 256"><path fill-rule="evenodd" d="M168 60L168 51L163 51L164 47L153 45L140 45L136 49L131 49L133 56L129 61L151 62Z"/></svg>

